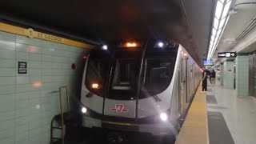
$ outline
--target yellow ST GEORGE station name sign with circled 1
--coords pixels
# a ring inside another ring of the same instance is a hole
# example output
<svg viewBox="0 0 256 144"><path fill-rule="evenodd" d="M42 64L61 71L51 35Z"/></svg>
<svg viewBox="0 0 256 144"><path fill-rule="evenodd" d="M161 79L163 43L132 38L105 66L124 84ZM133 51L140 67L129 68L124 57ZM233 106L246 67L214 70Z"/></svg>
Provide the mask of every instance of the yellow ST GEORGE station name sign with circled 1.
<svg viewBox="0 0 256 144"><path fill-rule="evenodd" d="M64 42L64 38L60 38L60 37L57 37L57 36L54 36L51 34L41 33L41 32L35 31L31 28L24 30L24 33L29 38L38 38L38 39L51 41L51 42L58 42L58 43Z"/></svg>

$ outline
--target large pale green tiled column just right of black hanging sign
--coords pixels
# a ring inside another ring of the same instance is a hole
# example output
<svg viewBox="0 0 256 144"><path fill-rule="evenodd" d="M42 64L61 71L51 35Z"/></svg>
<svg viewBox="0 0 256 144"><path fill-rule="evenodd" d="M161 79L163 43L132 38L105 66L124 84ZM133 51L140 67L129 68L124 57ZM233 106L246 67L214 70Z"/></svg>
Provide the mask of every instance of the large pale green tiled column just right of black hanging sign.
<svg viewBox="0 0 256 144"><path fill-rule="evenodd" d="M236 91L238 96L248 96L249 93L249 57L236 58Z"/></svg>

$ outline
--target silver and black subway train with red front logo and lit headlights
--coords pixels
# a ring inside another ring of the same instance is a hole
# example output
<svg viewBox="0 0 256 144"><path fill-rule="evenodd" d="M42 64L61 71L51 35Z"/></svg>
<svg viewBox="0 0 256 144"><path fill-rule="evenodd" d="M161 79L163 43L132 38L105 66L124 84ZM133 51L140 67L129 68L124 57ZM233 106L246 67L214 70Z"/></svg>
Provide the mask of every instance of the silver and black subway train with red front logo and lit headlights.
<svg viewBox="0 0 256 144"><path fill-rule="evenodd" d="M82 126L174 136L201 78L186 49L169 39L97 46L86 56Z"/></svg>

